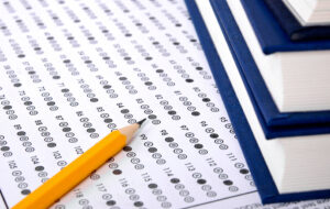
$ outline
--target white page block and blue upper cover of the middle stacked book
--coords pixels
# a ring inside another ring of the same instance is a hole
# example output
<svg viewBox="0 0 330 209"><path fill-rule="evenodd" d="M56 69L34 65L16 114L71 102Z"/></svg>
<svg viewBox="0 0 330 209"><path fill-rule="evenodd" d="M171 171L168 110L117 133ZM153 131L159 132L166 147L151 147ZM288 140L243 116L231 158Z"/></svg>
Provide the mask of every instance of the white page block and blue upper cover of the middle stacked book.
<svg viewBox="0 0 330 209"><path fill-rule="evenodd" d="M264 0L241 0L240 31L280 112L330 110L330 41L293 42Z"/></svg>

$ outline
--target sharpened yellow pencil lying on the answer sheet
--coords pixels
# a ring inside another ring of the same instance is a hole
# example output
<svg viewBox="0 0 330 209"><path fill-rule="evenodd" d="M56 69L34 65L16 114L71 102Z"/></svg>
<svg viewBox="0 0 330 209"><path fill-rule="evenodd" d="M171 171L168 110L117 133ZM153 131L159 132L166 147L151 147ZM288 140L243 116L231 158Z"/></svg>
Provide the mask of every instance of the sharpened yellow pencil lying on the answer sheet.
<svg viewBox="0 0 330 209"><path fill-rule="evenodd" d="M111 132L12 209L44 209L51 207L56 200L106 163L107 160L120 152L131 141L144 121L145 119Z"/></svg>

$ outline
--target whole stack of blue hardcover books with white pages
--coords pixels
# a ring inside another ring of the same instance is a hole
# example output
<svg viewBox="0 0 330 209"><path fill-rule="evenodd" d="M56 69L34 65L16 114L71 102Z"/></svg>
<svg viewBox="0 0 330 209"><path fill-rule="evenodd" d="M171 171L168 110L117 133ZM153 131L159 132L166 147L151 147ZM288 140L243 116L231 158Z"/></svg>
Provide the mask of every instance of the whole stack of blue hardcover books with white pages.
<svg viewBox="0 0 330 209"><path fill-rule="evenodd" d="M330 198L328 4L186 4L262 201Z"/></svg>

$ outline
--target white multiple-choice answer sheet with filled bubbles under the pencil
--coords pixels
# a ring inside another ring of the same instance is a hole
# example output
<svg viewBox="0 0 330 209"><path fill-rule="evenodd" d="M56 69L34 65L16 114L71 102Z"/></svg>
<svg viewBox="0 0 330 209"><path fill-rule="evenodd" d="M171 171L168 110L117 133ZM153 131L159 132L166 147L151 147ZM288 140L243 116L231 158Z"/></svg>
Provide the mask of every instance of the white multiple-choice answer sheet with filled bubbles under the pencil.
<svg viewBox="0 0 330 209"><path fill-rule="evenodd" d="M52 208L330 208L260 204L184 1L2 0L0 68L0 208L143 118Z"/></svg>

